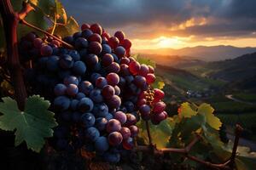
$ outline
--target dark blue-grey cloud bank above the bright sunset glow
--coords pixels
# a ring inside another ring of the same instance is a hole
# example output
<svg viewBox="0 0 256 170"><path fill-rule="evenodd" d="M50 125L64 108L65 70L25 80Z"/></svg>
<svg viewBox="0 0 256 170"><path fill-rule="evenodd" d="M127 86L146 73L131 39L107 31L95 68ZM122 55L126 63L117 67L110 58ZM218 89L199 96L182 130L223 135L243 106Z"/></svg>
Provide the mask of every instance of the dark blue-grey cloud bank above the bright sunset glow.
<svg viewBox="0 0 256 170"><path fill-rule="evenodd" d="M256 30L254 0L62 0L61 2L66 6L67 13L73 15L80 24L83 21L99 22L108 29L126 26L126 29L132 30L129 31L131 36L137 37L140 37L136 35L139 32L154 34L154 30L147 27L155 25L163 29L163 32L184 36L191 34L216 37L247 36ZM177 26L196 17L211 18L214 21L208 22L206 26L192 26L182 31L167 30L171 26Z"/></svg>

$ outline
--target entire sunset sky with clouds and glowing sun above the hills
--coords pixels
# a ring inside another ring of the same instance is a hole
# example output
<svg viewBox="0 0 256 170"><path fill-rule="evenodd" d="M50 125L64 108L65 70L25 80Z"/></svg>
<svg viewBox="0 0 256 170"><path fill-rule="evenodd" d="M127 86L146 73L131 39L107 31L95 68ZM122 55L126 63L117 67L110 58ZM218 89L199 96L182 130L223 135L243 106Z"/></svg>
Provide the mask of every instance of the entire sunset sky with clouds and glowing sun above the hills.
<svg viewBox="0 0 256 170"><path fill-rule="evenodd" d="M61 0L79 24L125 31L135 50L256 47L256 0Z"/></svg>

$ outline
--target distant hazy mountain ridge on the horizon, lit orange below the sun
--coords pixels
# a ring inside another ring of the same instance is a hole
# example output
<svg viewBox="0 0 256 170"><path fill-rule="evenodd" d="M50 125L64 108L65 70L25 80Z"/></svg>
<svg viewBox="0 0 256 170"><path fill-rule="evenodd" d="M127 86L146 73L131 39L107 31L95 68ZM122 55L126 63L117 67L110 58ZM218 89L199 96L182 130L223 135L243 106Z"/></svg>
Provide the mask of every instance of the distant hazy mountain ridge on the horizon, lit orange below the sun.
<svg viewBox="0 0 256 170"><path fill-rule="evenodd" d="M242 54L251 54L256 52L256 48L237 48L234 46L196 46L193 48L158 48L158 49L143 49L135 50L134 54L150 55L149 58L156 58L155 60L160 60L182 57L183 59L201 59L203 61L218 61L224 59L235 59L237 56ZM155 57L154 57L155 56ZM159 58L160 57L160 58ZM158 59L157 59L158 58ZM171 59L171 61L173 60ZM161 61L160 61L161 62ZM163 62L166 63L166 62Z"/></svg>

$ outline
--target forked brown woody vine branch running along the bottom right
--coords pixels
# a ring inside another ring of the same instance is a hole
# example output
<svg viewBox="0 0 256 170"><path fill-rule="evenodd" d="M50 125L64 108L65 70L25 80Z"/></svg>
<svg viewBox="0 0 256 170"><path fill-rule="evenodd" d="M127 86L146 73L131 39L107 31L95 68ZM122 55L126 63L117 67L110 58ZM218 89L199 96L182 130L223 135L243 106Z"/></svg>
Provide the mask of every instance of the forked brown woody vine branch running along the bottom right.
<svg viewBox="0 0 256 170"><path fill-rule="evenodd" d="M193 146L201 139L201 136L199 134L196 134L195 139L193 139L186 147L184 148L163 148L163 149L157 149L154 145L154 154L155 155L163 155L165 153L179 153L183 154L185 157L187 157L189 160L196 161L198 163L201 163L207 167L212 167L216 169L225 169L225 170L233 170L236 167L235 159L236 159L236 150L237 145L239 142L239 138L242 132L242 127L240 125L236 125L236 138L233 145L233 150L230 158L225 161L224 163L212 163L210 161L204 161L196 156L190 156L189 151L193 148ZM138 145L134 148L135 151L151 151L152 145Z"/></svg>

